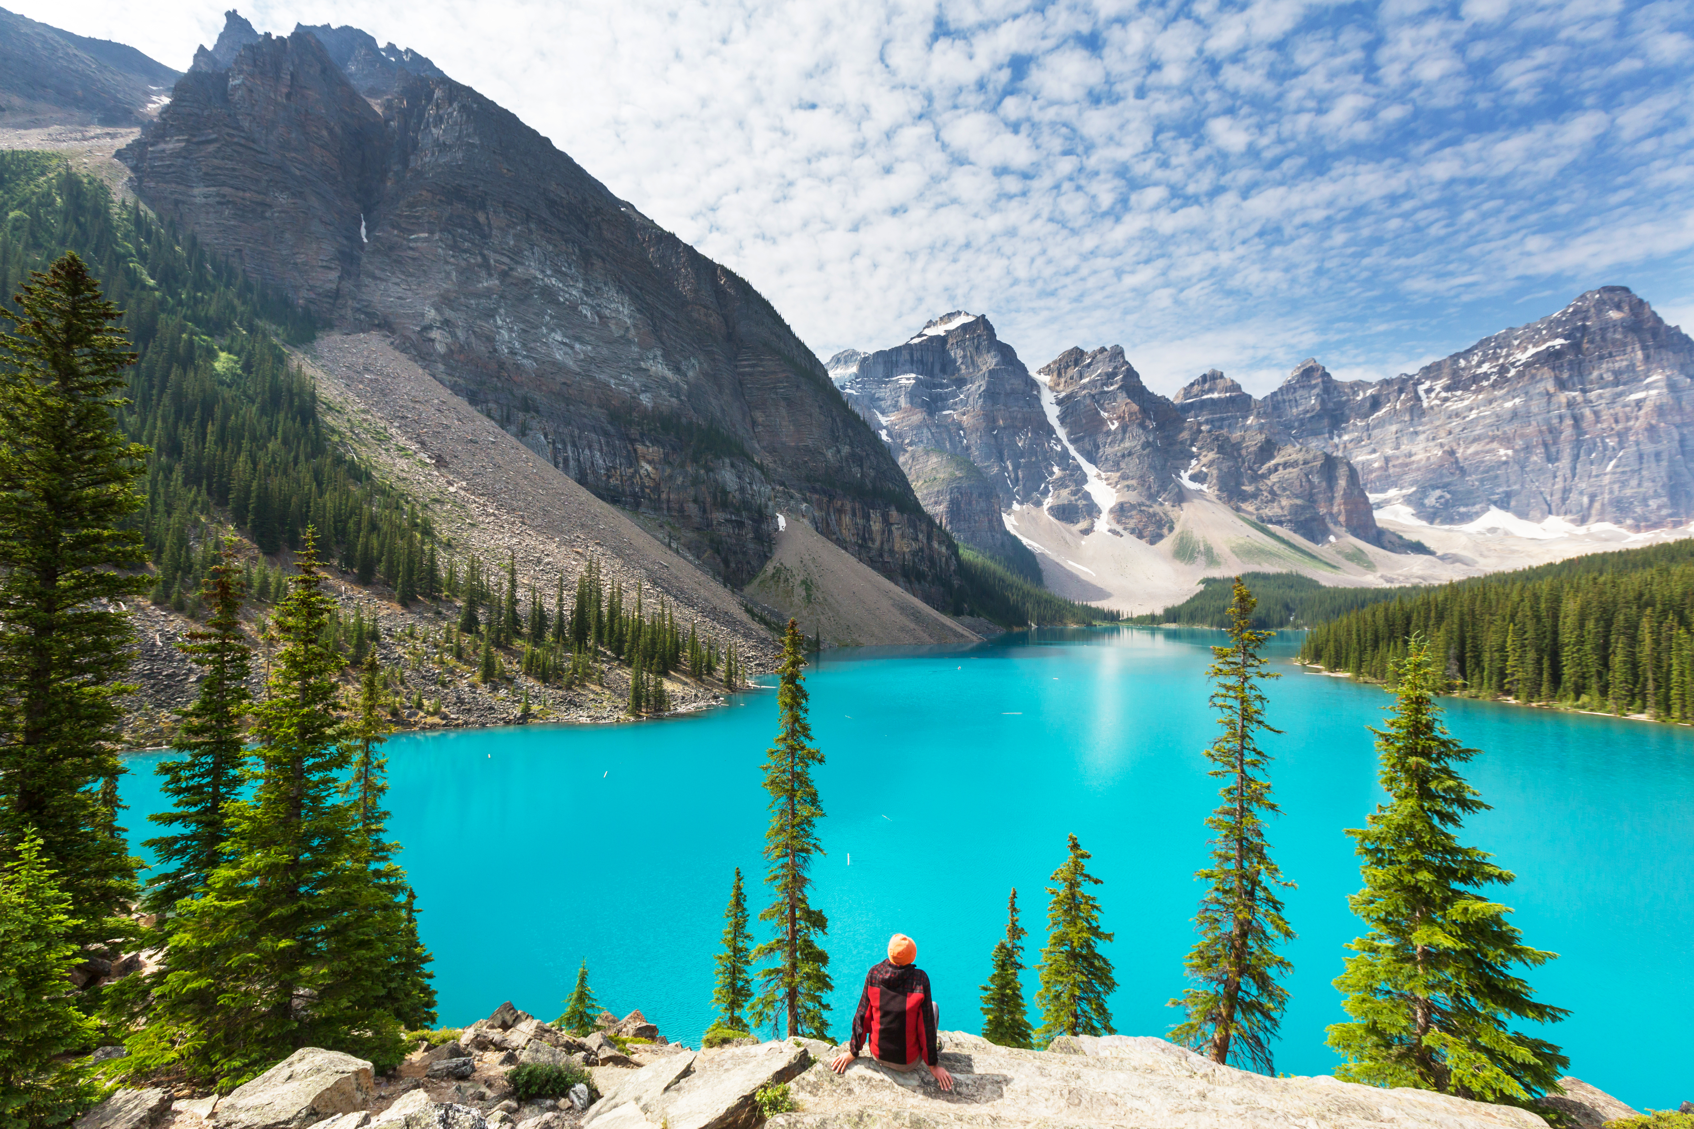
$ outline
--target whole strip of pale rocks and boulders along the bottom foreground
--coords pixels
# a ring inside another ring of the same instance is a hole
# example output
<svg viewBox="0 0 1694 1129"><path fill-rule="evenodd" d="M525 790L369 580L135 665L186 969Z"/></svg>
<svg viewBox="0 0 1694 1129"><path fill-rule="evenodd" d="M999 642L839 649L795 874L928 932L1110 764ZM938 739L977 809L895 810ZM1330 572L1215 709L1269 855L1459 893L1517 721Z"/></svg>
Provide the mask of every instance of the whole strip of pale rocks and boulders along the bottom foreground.
<svg viewBox="0 0 1694 1129"><path fill-rule="evenodd" d="M501 1004L462 1031L420 1041L398 1070L303 1048L229 1095L127 1088L75 1129L1547 1129L1540 1115L1426 1090L1270 1078L1142 1036L1054 1039L1045 1051L940 1033L944 1092L820 1039L691 1049L639 1012L601 1014L576 1036ZM122 1048L102 1048L95 1061ZM535 1070L556 1068L534 1093ZM1579 1078L1547 1104L1572 1129L1638 1115Z"/></svg>

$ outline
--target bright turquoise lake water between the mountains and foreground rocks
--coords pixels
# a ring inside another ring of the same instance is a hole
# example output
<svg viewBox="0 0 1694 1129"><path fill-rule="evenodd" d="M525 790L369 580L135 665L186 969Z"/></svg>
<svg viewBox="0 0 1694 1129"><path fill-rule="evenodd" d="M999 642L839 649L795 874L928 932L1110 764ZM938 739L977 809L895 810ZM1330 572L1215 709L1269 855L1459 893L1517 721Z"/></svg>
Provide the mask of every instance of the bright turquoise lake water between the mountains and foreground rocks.
<svg viewBox="0 0 1694 1129"><path fill-rule="evenodd" d="M977 1031L979 985L1005 929L1006 892L1045 936L1044 884L1066 834L1093 853L1116 939L1113 1021L1162 1036L1216 804L1204 746L1211 631L1076 630L969 650L828 652L808 672L811 724L828 763L815 904L830 919L832 1033L845 1038L864 970L888 936L911 934L944 1029ZM1298 636L1270 652L1287 658ZM1276 1068L1328 1073L1323 1027L1343 1019L1330 982L1359 934L1352 841L1379 799L1365 733L1377 687L1301 674L1270 686L1267 738L1282 816L1272 845L1299 938ZM769 679L766 679L769 680ZM1611 718L1448 701L1447 721L1484 750L1470 782L1492 811L1465 840L1516 872L1499 895L1525 939L1560 953L1528 973L1570 1009L1547 1031L1570 1073L1636 1109L1694 1099L1694 731ZM711 958L730 873L766 904L759 765L776 694L752 691L688 718L617 726L525 726L396 736L391 829L435 955L440 1021L461 1026L505 999L562 1011L581 960L600 1002L642 1009L673 1039L710 1022ZM132 840L161 799L129 758ZM762 939L762 936L761 936ZM1025 995L1033 999L1033 968ZM696 1043L698 1044L698 1043Z"/></svg>

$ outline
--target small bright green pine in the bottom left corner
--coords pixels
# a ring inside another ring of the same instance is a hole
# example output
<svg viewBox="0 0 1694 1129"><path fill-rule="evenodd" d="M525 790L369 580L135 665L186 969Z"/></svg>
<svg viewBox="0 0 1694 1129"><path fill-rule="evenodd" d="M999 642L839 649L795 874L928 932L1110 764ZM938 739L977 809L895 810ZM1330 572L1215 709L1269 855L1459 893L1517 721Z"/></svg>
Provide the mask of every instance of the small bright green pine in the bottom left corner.
<svg viewBox="0 0 1694 1129"><path fill-rule="evenodd" d="M76 1011L68 977L83 953L68 938L71 899L47 867L41 838L25 831L0 865L0 1126L46 1129L81 1114L100 1093L66 1061L98 1036Z"/></svg>

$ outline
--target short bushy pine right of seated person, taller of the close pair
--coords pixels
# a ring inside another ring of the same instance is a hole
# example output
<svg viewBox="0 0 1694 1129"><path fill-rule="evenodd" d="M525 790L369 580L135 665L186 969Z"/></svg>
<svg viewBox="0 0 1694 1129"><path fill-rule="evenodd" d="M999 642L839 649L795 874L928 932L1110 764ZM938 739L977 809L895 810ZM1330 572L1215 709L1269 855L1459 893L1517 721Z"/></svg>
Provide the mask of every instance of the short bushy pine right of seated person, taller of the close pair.
<svg viewBox="0 0 1694 1129"><path fill-rule="evenodd" d="M1042 987L1035 1005L1042 1011L1042 1029L1037 1041L1045 1044L1060 1034L1113 1034L1111 1011L1106 1007L1118 982L1111 978L1111 961L1099 951L1101 941L1111 941L1099 928L1099 899L1088 892L1101 880L1088 873L1091 858L1076 836L1069 841L1071 856L1054 872L1059 885L1047 887L1052 899L1047 904L1047 948L1035 965Z"/></svg>

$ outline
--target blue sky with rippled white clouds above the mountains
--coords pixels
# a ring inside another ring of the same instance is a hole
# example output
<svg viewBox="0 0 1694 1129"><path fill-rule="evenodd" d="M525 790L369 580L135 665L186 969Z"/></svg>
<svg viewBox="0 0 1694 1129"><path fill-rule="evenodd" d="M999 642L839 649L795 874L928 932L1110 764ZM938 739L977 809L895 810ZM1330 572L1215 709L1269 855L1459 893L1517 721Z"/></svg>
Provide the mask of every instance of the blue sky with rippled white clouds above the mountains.
<svg viewBox="0 0 1694 1129"><path fill-rule="evenodd" d="M185 68L219 3L10 0ZM242 5L515 110L823 357L988 313L1174 391L1389 376L1625 284L1694 328L1686 2Z"/></svg>

